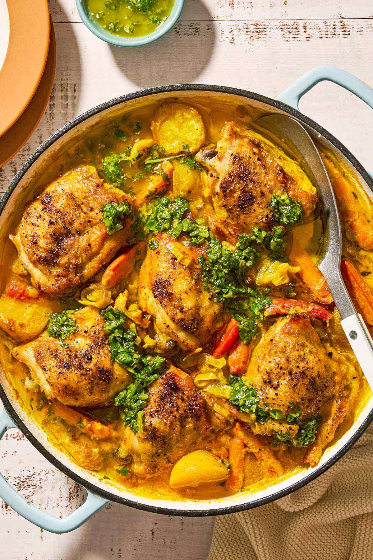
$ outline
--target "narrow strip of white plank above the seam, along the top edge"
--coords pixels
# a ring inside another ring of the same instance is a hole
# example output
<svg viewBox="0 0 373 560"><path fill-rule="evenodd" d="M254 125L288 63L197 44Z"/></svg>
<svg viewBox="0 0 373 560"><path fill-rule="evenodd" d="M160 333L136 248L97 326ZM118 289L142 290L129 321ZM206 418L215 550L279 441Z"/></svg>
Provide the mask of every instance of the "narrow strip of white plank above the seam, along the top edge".
<svg viewBox="0 0 373 560"><path fill-rule="evenodd" d="M53 20L81 21L74 0L49 0ZM279 20L373 17L373 6L364 0L185 0L182 21Z"/></svg>

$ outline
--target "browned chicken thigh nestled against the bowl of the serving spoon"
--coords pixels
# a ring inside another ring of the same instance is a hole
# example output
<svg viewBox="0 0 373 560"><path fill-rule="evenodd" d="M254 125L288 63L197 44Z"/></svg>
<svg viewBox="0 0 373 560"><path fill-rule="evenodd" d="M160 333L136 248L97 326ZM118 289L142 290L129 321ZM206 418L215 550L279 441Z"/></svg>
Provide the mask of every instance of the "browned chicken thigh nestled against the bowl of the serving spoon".
<svg viewBox="0 0 373 560"><path fill-rule="evenodd" d="M253 133L240 134L234 123L221 130L216 148L202 148L196 160L208 170L205 184L216 214L213 222L232 238L251 234L254 226L271 229L268 203L273 194L287 193L300 202L304 217L315 208L317 191L299 165Z"/></svg>

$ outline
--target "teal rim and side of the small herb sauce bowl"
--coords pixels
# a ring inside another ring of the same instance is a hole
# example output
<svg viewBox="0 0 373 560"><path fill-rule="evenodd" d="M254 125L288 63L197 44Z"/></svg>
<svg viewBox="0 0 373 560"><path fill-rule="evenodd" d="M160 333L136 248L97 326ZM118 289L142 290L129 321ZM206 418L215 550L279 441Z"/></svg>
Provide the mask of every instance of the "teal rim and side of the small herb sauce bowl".
<svg viewBox="0 0 373 560"><path fill-rule="evenodd" d="M163 37L163 35L176 24L184 7L184 0L174 0L172 11L167 20L163 22L157 30L141 37L119 37L117 35L113 35L98 25L95 18L91 16L87 6L87 0L76 0L76 4L83 24L86 25L89 31L92 31L92 33L94 33L99 39L116 46L141 46L153 43L153 41L160 39L160 37Z"/></svg>

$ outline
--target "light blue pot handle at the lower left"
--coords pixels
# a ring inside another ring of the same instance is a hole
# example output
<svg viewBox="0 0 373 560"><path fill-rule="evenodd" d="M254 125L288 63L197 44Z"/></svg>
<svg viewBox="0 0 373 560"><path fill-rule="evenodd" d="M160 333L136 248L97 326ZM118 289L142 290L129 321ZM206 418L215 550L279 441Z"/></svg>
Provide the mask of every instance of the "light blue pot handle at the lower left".
<svg viewBox="0 0 373 560"><path fill-rule="evenodd" d="M0 412L0 440L10 428L18 429L18 426L10 419L5 408L3 408ZM51 533L68 533L77 529L108 502L108 500L97 496L89 490L87 492L87 500L81 507L64 519L56 519L56 517L39 510L39 508L27 502L0 474L0 497L4 502L18 514L22 515L22 517L34 523L34 525Z"/></svg>

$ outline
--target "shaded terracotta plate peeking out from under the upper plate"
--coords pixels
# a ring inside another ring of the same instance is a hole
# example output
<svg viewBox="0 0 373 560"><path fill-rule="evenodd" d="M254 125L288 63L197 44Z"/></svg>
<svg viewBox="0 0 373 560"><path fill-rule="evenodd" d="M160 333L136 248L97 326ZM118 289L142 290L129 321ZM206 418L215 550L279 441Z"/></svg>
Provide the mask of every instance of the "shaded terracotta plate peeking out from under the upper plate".
<svg viewBox="0 0 373 560"><path fill-rule="evenodd" d="M55 69L56 40L51 24L49 52L39 86L20 118L0 137L0 167L27 142L43 116L52 91Z"/></svg>

